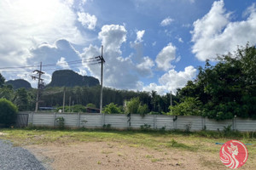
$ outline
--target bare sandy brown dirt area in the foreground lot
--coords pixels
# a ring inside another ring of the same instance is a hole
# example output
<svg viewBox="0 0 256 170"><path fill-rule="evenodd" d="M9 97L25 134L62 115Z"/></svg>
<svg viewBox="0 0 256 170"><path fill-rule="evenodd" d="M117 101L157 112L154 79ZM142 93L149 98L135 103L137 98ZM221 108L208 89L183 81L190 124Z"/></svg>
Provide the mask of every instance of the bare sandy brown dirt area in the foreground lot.
<svg viewBox="0 0 256 170"><path fill-rule="evenodd" d="M218 153L205 153L200 150L154 150L136 144L123 145L113 142L31 145L26 148L55 170L227 169L219 161Z"/></svg>

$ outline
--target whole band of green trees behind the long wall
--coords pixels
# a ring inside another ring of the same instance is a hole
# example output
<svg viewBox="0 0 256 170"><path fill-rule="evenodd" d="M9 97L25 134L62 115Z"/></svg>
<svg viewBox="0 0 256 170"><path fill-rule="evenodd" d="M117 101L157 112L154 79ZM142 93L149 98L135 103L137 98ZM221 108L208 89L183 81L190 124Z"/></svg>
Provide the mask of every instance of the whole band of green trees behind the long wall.
<svg viewBox="0 0 256 170"><path fill-rule="evenodd" d="M204 67L198 68L195 80L172 94L172 106L171 94L103 88L104 111L207 116L216 120L234 116L256 118L255 46L247 44L236 53L219 55L212 63L207 60ZM4 82L0 74L0 99L9 99L19 111L34 111L37 89L14 90ZM65 105L93 104L99 108L100 89L100 86L48 87L39 93L39 106L61 106L65 93ZM126 110L122 107L125 101Z"/></svg>

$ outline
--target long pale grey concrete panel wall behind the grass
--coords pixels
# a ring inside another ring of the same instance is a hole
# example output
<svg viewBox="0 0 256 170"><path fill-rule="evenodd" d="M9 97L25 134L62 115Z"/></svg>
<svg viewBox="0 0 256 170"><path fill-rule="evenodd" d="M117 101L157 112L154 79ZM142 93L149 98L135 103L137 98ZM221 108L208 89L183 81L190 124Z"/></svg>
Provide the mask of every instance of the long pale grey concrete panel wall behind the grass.
<svg viewBox="0 0 256 170"><path fill-rule="evenodd" d="M144 124L150 125L150 128L160 129L164 127L166 130L189 128L191 131L202 129L217 131L223 130L224 127L231 126L232 129L241 132L256 131L256 120L234 118L232 120L215 121L201 116L164 116L164 115L131 115L124 114L101 115L98 113L34 113L22 112L18 116L17 124L21 121L24 124L24 115L28 115L27 123L35 126L57 127L57 117L64 117L66 127L102 127L104 124L111 124L115 128L140 128Z"/></svg>

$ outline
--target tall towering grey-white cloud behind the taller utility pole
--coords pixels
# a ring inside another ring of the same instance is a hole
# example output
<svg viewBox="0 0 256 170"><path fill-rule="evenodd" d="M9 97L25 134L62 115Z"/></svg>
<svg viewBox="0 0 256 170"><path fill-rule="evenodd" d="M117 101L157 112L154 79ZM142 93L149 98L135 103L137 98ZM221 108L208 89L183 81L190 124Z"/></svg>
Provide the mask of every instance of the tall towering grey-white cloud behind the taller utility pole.
<svg viewBox="0 0 256 170"><path fill-rule="evenodd" d="M102 26L99 32L99 39L102 40L104 47L104 86L112 88L137 89L138 76L136 65L131 58L122 57L121 45L126 41L126 30L124 26L107 25ZM81 54L82 59L88 59L101 54L101 48L90 45L84 48ZM88 70L95 77L100 77L99 65L87 65Z"/></svg>

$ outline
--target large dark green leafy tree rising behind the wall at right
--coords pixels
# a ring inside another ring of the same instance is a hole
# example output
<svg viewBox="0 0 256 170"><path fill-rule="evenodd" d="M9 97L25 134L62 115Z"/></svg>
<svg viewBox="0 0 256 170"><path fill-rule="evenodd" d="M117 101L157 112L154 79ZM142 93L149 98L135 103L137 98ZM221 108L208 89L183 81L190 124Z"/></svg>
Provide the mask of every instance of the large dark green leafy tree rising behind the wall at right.
<svg viewBox="0 0 256 170"><path fill-rule="evenodd" d="M245 48L238 48L235 54L218 56L217 60L216 65L207 61L204 68L199 67L195 81L177 91L178 98L183 102L188 97L200 100L203 104L201 114L209 118L256 118L255 46L247 44Z"/></svg>

